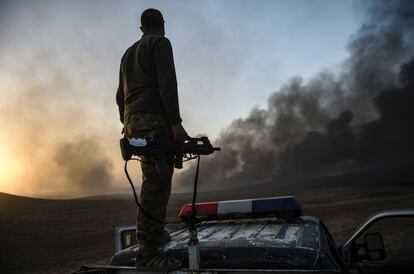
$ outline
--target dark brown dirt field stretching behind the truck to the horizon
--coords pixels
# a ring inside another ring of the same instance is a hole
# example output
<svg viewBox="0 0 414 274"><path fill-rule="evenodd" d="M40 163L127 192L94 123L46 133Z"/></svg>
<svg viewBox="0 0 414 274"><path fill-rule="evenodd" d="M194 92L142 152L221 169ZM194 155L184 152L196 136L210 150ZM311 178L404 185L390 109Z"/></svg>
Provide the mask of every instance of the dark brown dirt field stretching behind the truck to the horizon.
<svg viewBox="0 0 414 274"><path fill-rule="evenodd" d="M304 215L324 220L341 243L369 214L414 207L414 183L369 185L311 183L255 186L237 191L201 193L199 201L294 194ZM175 219L188 194L175 194L169 218ZM42 200L0 193L0 272L69 273L87 263L108 263L113 228L135 222L132 196Z"/></svg>

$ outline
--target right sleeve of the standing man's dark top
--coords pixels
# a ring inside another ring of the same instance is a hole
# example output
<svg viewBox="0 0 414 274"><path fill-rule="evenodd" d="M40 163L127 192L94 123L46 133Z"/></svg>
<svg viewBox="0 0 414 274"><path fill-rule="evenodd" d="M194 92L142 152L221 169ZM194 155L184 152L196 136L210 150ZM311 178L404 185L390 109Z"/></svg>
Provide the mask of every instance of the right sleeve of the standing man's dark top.
<svg viewBox="0 0 414 274"><path fill-rule="evenodd" d="M172 126L179 125L182 119L178 105L177 78L172 47L167 38L162 38L155 45L154 58L159 91L167 119Z"/></svg>

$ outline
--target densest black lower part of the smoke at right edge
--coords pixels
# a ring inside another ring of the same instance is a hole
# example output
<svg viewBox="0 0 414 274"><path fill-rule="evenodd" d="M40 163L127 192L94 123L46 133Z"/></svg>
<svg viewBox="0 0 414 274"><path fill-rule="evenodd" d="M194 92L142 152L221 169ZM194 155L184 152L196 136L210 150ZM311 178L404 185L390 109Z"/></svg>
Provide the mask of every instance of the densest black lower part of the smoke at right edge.
<svg viewBox="0 0 414 274"><path fill-rule="evenodd" d="M374 98L379 117L351 125L353 113L344 111L323 132L305 139L281 155L280 172L307 171L344 161L359 166L401 166L414 163L414 58L401 68L401 87Z"/></svg>

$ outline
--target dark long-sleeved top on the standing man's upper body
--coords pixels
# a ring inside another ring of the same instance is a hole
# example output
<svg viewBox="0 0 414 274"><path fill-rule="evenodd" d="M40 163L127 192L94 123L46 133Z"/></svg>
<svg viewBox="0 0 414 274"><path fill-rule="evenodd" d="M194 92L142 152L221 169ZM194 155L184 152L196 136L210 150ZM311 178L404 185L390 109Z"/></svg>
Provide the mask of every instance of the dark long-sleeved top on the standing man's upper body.
<svg viewBox="0 0 414 274"><path fill-rule="evenodd" d="M181 122L172 47L160 35L143 35L121 60L118 105L124 117L133 113L154 113L171 125Z"/></svg>

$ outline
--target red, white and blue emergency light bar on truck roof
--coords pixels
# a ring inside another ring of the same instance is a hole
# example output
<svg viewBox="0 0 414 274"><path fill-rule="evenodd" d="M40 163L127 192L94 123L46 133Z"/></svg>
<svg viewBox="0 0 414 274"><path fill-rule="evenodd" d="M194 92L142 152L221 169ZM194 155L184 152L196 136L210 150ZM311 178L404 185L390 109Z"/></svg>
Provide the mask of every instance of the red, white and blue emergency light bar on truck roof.
<svg viewBox="0 0 414 274"><path fill-rule="evenodd" d="M205 219L276 216L292 220L302 215L302 207L294 196L197 203L195 210L196 217ZM179 216L185 219L191 214L192 205L186 204L181 208Z"/></svg>

